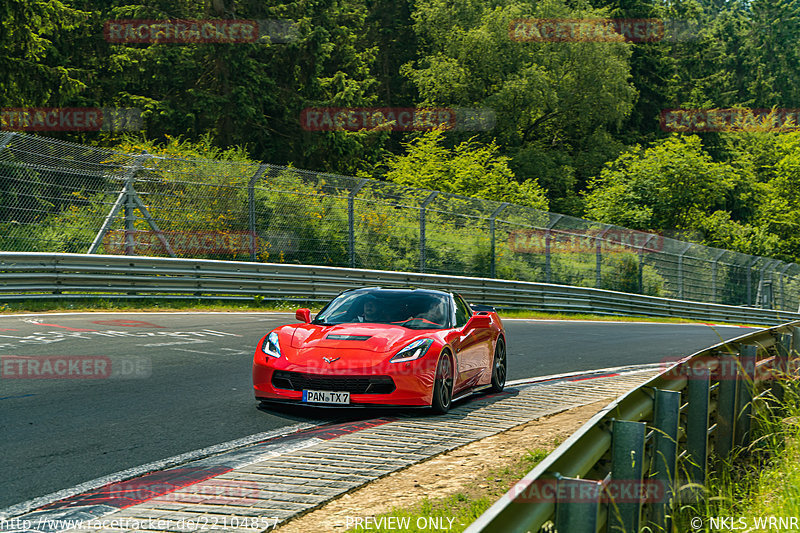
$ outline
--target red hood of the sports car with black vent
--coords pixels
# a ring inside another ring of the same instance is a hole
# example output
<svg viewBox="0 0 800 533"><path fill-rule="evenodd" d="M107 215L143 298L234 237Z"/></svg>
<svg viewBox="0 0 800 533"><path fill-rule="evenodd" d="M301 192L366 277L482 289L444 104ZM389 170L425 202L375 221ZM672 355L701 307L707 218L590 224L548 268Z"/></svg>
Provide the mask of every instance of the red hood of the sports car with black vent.
<svg viewBox="0 0 800 533"><path fill-rule="evenodd" d="M420 330L387 324L303 324L295 328L291 346L304 352L319 348L386 353L396 352L423 336Z"/></svg>

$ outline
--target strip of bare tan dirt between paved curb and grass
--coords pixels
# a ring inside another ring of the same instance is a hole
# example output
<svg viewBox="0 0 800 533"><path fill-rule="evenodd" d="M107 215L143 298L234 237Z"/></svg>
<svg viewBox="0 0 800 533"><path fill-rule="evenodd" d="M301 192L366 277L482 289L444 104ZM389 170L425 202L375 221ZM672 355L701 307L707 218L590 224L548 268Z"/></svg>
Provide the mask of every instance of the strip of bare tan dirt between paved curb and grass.
<svg viewBox="0 0 800 533"><path fill-rule="evenodd" d="M373 481L323 507L288 522L280 533L342 532L348 516L375 516L393 507L409 508L459 492L473 498L502 494L492 486L492 472L519 464L528 450L553 450L614 398L576 407L475 441L423 463ZM499 479L495 482L501 482ZM505 484L504 484L505 485ZM497 499L494 496L493 499Z"/></svg>

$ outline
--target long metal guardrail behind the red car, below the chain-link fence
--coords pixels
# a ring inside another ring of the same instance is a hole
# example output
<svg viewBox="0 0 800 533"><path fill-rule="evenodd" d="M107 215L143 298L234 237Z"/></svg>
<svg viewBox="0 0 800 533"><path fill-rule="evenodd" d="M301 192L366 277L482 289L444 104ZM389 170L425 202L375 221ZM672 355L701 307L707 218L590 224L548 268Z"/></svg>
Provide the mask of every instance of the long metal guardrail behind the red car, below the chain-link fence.
<svg viewBox="0 0 800 533"><path fill-rule="evenodd" d="M0 301L201 298L325 302L344 289L414 286L460 292L500 309L678 317L774 325L800 314L587 287L438 274L160 257L0 252Z"/></svg>

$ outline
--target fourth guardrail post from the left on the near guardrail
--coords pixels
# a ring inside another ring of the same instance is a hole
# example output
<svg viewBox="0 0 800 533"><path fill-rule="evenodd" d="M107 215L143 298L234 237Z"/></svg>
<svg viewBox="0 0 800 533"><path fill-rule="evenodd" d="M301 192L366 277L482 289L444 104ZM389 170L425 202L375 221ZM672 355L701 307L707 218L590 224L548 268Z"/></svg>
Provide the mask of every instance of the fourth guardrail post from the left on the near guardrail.
<svg viewBox="0 0 800 533"><path fill-rule="evenodd" d="M688 372L688 413L686 418L686 475L700 485L706 481L708 460L708 368L691 368Z"/></svg>

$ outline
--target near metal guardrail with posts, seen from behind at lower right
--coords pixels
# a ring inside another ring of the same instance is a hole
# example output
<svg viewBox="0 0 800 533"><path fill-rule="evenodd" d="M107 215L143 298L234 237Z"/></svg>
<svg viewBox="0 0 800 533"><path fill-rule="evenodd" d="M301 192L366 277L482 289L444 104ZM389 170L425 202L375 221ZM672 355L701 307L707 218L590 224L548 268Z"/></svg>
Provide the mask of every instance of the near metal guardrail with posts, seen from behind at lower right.
<svg viewBox="0 0 800 533"><path fill-rule="evenodd" d="M466 533L673 531L710 458L751 442L756 401L782 400L800 321L702 350L621 397L539 463ZM758 387L773 383L770 391ZM713 454L712 454L713 450ZM625 484L634 497L624 497ZM609 488L613 488L610 491ZM614 497L614 492L617 496ZM655 497L655 496L658 497ZM651 497L653 496L653 497Z"/></svg>

